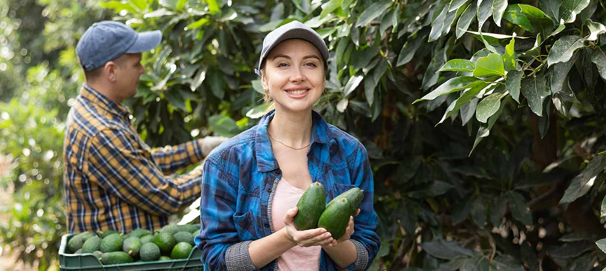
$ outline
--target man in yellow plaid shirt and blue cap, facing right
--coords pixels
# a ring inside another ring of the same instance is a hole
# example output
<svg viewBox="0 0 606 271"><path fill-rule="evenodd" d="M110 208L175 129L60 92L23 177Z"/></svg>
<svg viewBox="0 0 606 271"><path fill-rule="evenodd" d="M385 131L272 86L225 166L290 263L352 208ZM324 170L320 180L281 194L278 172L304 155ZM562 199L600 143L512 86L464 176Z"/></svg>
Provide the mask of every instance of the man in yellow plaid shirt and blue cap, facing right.
<svg viewBox="0 0 606 271"><path fill-rule="evenodd" d="M158 229L201 193L196 164L225 138L207 136L178 146L150 149L122 105L135 96L145 72L141 53L154 49L159 30L137 33L121 22L102 21L76 46L86 83L67 118L64 141L68 232Z"/></svg>

